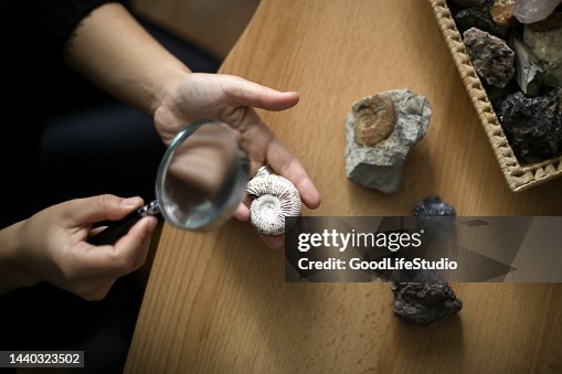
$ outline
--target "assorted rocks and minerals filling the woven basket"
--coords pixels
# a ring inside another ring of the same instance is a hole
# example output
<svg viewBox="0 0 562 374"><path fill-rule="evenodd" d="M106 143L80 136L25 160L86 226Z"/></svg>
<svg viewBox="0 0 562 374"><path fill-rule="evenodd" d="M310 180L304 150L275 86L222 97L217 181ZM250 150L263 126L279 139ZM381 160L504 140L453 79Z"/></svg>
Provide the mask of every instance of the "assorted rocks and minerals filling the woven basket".
<svg viewBox="0 0 562 374"><path fill-rule="evenodd" d="M562 0L447 0L523 164L562 153Z"/></svg>

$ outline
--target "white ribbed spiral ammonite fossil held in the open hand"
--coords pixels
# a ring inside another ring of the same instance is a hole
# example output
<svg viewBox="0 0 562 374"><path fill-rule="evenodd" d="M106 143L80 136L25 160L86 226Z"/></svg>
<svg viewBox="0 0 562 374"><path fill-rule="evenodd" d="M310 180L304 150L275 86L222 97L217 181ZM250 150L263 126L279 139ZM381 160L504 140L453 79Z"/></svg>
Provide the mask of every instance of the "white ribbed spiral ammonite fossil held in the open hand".
<svg viewBox="0 0 562 374"><path fill-rule="evenodd" d="M265 235L285 232L285 217L300 214L300 194L287 179L262 167L247 183L246 193L254 199L250 205L250 218L254 227Z"/></svg>

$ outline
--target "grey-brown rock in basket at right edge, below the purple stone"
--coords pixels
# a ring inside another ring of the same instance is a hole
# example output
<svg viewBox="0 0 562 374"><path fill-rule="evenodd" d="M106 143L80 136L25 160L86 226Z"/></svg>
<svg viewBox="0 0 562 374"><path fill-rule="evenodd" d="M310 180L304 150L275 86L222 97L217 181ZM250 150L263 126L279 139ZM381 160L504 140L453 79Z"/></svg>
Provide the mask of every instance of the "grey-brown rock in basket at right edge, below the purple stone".
<svg viewBox="0 0 562 374"><path fill-rule="evenodd" d="M562 13L527 24L523 40L544 64L544 84L562 87Z"/></svg>

